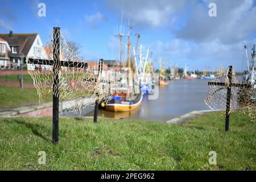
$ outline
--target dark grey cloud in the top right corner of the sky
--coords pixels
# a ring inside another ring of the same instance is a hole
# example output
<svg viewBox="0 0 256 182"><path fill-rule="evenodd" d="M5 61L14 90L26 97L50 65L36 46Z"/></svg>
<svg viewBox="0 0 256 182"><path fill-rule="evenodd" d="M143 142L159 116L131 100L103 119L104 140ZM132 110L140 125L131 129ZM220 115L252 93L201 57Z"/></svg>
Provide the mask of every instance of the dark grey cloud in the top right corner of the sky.
<svg viewBox="0 0 256 182"><path fill-rule="evenodd" d="M217 17L208 15L208 5L191 3L191 18L180 30L177 38L195 40L196 42L220 41L234 43L246 39L256 31L256 7L253 0L214 1L217 5Z"/></svg>

